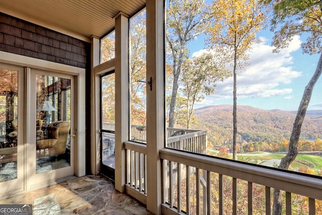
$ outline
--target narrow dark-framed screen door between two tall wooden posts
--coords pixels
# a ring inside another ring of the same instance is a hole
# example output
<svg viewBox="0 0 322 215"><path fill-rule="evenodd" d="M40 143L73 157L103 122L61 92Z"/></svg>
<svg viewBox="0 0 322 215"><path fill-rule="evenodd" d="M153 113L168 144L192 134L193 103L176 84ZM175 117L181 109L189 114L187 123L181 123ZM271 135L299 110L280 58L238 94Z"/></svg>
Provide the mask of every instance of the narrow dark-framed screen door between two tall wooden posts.
<svg viewBox="0 0 322 215"><path fill-rule="evenodd" d="M115 73L101 81L101 172L114 181L115 174Z"/></svg>

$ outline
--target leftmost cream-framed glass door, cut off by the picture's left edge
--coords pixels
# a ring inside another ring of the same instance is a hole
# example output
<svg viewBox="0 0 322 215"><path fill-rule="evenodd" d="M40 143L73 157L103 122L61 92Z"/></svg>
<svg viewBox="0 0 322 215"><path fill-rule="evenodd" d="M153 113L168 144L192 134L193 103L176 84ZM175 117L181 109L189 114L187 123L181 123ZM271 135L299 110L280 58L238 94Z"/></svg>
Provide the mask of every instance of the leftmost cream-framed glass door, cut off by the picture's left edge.
<svg viewBox="0 0 322 215"><path fill-rule="evenodd" d="M0 64L0 194L23 189L23 80L23 67Z"/></svg>

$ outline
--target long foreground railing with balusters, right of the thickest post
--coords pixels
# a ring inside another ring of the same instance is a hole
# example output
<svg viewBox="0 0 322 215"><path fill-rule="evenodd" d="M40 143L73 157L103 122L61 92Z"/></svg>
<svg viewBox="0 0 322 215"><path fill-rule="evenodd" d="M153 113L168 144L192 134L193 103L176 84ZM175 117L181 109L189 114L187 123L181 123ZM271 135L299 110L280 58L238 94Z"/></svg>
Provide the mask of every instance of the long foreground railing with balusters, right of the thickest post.
<svg viewBox="0 0 322 215"><path fill-rule="evenodd" d="M160 150L160 158L163 214L271 214L273 189L284 192L283 214L298 214L298 195L308 214L321 212L321 179L171 149Z"/></svg>

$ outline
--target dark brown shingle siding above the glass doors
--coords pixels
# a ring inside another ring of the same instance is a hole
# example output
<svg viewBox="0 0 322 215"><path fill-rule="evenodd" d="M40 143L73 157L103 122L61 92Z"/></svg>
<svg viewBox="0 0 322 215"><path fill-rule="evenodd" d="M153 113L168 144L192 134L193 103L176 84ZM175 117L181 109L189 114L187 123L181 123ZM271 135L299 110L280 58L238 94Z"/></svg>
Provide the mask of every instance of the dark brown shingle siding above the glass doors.
<svg viewBox="0 0 322 215"><path fill-rule="evenodd" d="M90 43L0 13L0 51L86 68Z"/></svg>

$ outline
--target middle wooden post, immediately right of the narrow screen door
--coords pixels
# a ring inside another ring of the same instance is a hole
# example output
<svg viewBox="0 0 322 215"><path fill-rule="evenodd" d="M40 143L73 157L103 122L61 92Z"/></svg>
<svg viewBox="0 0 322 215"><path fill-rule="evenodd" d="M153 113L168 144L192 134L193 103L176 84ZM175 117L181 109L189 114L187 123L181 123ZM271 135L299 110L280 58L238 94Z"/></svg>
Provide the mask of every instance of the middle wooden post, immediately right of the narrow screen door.
<svg viewBox="0 0 322 215"><path fill-rule="evenodd" d="M125 191L125 149L129 139L128 17L115 16L115 189Z"/></svg>

